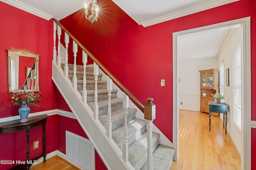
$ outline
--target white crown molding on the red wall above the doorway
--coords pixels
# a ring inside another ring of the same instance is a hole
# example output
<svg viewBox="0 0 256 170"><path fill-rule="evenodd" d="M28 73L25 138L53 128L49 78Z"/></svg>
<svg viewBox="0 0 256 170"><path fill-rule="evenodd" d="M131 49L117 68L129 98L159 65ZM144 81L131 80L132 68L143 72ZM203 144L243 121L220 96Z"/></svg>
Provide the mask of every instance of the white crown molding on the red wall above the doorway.
<svg viewBox="0 0 256 170"><path fill-rule="evenodd" d="M212 0L211 2L206 2L206 3L200 4L198 6L192 6L190 8L186 8L184 10L180 10L180 11L173 12L171 14L162 16L162 17L158 17L158 18L155 18L155 19L152 19L152 20L142 22L141 25L143 27L148 27L150 25L155 25L157 23L161 23L161 22L164 22L164 21L173 20L175 18L180 18L180 17L183 17L183 16L194 14L196 12L201 12L201 11L204 11L204 10L208 10L208 9L211 9L211 8L215 8L215 7L222 6L222 5L229 4L229 3L232 3L232 2L236 2L236 1L239 1L239 0Z"/></svg>

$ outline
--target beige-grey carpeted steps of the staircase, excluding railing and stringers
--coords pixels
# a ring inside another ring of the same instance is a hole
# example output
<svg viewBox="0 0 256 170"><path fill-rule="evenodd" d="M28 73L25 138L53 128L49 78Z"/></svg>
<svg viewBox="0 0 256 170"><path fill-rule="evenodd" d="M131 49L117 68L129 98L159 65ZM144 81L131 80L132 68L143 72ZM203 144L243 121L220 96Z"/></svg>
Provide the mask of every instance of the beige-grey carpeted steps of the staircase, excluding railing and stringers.
<svg viewBox="0 0 256 170"><path fill-rule="evenodd" d="M68 64L68 77L72 82L73 78L73 64ZM61 64L64 70L64 64ZM83 66L76 66L77 72L77 90L82 95L83 89ZM87 90L87 104L93 110L94 106L94 73L93 67L86 67L86 90ZM98 105L99 105L99 120L102 125L107 128L108 121L108 90L107 82L102 80L102 74L98 76ZM113 89L111 93L111 121L112 121L112 139L116 145L122 150L124 143L124 108L122 98L117 98L118 90ZM136 109L128 108L127 123L128 123L128 143L129 143L129 162L135 170L146 170L147 168L147 121L144 119L136 119ZM154 170L168 170L172 164L172 156L174 149L159 144L158 133L153 133L153 169Z"/></svg>

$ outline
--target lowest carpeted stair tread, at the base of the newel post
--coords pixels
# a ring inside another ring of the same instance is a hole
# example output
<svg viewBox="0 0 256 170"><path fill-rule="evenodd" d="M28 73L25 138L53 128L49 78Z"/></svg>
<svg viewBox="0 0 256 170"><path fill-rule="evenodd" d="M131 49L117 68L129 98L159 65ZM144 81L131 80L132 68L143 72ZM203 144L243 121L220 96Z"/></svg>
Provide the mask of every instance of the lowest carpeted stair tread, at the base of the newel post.
<svg viewBox="0 0 256 170"><path fill-rule="evenodd" d="M168 170L172 165L174 149L164 145L158 145L153 152L153 170ZM147 162L141 170L147 169Z"/></svg>

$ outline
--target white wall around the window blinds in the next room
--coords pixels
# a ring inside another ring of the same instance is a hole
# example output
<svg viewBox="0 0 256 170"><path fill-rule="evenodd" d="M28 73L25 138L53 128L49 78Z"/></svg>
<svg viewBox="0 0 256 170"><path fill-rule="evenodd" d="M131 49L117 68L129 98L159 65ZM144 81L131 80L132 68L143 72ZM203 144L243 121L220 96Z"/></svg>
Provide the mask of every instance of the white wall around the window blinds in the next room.
<svg viewBox="0 0 256 170"><path fill-rule="evenodd" d="M241 155L242 141L241 141L241 132L233 123L233 92L232 92L232 51L240 43L241 37L241 27L235 28L232 30L232 33L222 51L219 55L218 63L224 61L224 102L228 104L228 123L227 130L228 133L238 150L238 153ZM226 86L226 69L229 68L229 84ZM223 121L223 115L221 114L220 118Z"/></svg>

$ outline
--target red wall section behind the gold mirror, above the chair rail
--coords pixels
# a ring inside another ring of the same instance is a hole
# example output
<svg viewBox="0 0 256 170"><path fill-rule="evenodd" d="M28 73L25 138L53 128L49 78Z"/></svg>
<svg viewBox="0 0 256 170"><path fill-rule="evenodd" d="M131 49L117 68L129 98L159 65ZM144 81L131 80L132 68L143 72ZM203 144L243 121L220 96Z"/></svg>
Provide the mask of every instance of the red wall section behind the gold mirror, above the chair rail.
<svg viewBox="0 0 256 170"><path fill-rule="evenodd" d="M47 21L28 12L0 2L0 118L18 115L18 106L10 103L6 49L22 49L39 56L39 85L43 100L40 107L31 107L30 113L56 108L52 82L53 21Z"/></svg>

